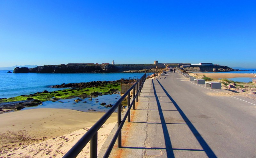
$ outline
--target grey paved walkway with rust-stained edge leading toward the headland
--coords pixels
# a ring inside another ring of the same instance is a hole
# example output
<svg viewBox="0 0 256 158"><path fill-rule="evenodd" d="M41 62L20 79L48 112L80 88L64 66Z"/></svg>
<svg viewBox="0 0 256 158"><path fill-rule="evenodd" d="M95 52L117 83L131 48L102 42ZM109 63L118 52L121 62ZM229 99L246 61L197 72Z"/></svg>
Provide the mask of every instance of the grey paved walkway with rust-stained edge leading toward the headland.
<svg viewBox="0 0 256 158"><path fill-rule="evenodd" d="M255 157L256 101L216 93L229 92L178 72L147 79L110 157Z"/></svg>

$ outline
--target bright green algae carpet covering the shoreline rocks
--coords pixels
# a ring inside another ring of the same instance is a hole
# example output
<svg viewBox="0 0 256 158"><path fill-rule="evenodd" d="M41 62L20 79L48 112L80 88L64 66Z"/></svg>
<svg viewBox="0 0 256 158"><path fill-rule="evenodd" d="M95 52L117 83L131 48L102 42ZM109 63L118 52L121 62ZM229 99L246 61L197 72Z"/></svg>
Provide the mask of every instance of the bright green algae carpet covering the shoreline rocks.
<svg viewBox="0 0 256 158"><path fill-rule="evenodd" d="M38 99L41 102L47 101L52 97L56 97L58 99L68 99L72 97L89 97L92 92L99 92L102 94L112 93L113 91L121 91L121 86L117 84L107 84L98 87L91 87L91 88L73 88L73 89L66 89L66 90L58 90L48 93L34 93L30 95L21 95L17 97L11 97L8 99L1 99L0 103L3 102L12 102L12 101L20 101L26 100L27 98L34 98Z"/></svg>

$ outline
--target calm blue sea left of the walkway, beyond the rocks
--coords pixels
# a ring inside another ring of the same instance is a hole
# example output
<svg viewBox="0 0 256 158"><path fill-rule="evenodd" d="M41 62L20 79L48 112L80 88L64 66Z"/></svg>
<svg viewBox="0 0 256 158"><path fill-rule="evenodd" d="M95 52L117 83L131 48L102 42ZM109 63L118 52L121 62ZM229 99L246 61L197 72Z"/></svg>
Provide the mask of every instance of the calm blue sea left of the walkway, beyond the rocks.
<svg viewBox="0 0 256 158"><path fill-rule="evenodd" d="M15 74L7 72L8 71L0 71L0 98L15 97L22 94L33 94L44 90L60 90L58 88L50 88L50 86L62 83L114 81L120 80L121 78L144 75L144 73ZM149 75L151 74L152 73L149 73Z"/></svg>

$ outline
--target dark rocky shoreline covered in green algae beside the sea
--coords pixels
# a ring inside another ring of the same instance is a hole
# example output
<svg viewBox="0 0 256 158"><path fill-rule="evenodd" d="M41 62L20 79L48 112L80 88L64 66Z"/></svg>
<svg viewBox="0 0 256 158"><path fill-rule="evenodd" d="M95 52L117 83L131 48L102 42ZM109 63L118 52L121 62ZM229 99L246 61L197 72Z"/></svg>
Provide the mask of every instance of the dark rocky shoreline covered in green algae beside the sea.
<svg viewBox="0 0 256 158"><path fill-rule="evenodd" d="M59 99L70 99L75 97L90 98L98 97L99 95L107 94L119 94L120 93L121 80L116 81L92 81L87 83L68 83L53 85L53 88L71 88L59 91L47 91L36 92L30 95L21 95L11 98L0 98L0 113L21 110L25 107L38 106L43 104L44 101L56 102ZM89 99L89 100L90 100ZM81 101L81 99L74 100L75 103ZM61 102L61 101L59 101ZM74 104L75 104L74 103ZM106 108L112 107L111 104L100 103Z"/></svg>

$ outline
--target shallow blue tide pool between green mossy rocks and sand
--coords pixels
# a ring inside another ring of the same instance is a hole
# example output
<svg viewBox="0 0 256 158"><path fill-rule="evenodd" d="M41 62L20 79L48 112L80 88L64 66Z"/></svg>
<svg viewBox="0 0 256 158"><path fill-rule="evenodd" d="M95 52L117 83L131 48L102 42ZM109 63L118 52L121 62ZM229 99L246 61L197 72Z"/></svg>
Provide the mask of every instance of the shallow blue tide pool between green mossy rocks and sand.
<svg viewBox="0 0 256 158"><path fill-rule="evenodd" d="M23 108L22 110L39 109L39 108L57 108L57 109L72 109L72 110L78 110L78 111L84 111L84 112L94 109L95 111L106 112L110 109L110 107L106 108L105 106L100 104L104 102L106 104L114 105L120 97L121 97L120 94L111 94L111 95L109 94L109 95L103 95L98 97L92 97L92 100L89 100L89 98L85 98L85 99L80 98L82 99L82 101L78 103L76 103L75 100L79 97L75 97L72 99L60 99L60 100L57 100L56 102L46 101L46 102L43 102L43 105L26 107L26 108ZM60 103L59 101L62 101L64 103ZM84 103L84 101L86 101L87 103Z"/></svg>

